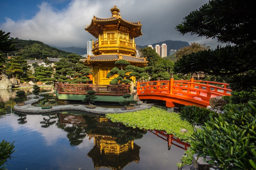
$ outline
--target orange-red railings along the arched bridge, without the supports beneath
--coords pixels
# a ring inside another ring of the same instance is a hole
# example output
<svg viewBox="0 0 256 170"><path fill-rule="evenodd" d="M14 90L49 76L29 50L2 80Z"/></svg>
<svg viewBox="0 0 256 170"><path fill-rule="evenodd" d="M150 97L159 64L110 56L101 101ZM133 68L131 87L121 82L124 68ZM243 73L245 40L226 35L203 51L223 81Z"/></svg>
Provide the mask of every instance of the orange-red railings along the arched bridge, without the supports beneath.
<svg viewBox="0 0 256 170"><path fill-rule="evenodd" d="M227 88L228 85L227 83L194 80L194 78L190 80L174 80L171 78L170 81L137 82L137 94L167 93L190 98L199 97L202 100L209 101L214 96L231 95L229 92L232 90Z"/></svg>

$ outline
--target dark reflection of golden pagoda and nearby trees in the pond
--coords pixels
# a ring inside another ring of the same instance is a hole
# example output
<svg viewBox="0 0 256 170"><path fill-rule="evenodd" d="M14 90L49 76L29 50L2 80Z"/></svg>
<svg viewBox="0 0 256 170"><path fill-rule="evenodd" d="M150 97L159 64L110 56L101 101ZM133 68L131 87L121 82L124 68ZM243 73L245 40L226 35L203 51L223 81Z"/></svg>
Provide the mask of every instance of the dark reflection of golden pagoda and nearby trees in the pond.
<svg viewBox="0 0 256 170"><path fill-rule="evenodd" d="M119 170L131 162L138 163L140 161L140 146L134 144L133 141L138 136L143 136L146 131L131 130L131 128L113 123L105 117L64 114L58 114L58 117L60 124L67 125L66 127L70 127L70 124L79 127L68 131L72 133L71 137L77 137L69 139L73 143L80 144L79 141L83 139L79 138L81 133L82 135L86 133L89 140L94 139L94 147L87 156L92 158L95 169L108 167ZM83 128L81 129L81 127ZM65 127L62 128L65 130ZM76 132L79 134L73 134Z"/></svg>

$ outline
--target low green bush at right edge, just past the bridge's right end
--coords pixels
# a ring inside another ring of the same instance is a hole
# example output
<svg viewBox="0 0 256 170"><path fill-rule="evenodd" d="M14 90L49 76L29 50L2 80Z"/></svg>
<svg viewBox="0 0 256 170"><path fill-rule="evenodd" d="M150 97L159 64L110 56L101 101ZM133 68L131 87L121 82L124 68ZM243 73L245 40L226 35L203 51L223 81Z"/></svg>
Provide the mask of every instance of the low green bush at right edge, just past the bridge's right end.
<svg viewBox="0 0 256 170"><path fill-rule="evenodd" d="M232 91L231 96L223 96L222 99L232 104L247 103L256 99L256 92Z"/></svg>

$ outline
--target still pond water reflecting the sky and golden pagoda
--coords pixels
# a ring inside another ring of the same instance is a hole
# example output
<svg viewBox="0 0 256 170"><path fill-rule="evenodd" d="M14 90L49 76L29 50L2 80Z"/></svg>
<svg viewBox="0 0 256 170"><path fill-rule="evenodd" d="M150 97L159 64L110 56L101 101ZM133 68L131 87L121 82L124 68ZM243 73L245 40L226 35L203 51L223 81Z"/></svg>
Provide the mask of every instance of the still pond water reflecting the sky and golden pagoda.
<svg viewBox="0 0 256 170"><path fill-rule="evenodd" d="M16 114L15 91L0 90L0 96L0 140L15 141L17 150L7 161L9 170L177 170L185 151L175 142L168 150L166 138L148 130L88 113Z"/></svg>

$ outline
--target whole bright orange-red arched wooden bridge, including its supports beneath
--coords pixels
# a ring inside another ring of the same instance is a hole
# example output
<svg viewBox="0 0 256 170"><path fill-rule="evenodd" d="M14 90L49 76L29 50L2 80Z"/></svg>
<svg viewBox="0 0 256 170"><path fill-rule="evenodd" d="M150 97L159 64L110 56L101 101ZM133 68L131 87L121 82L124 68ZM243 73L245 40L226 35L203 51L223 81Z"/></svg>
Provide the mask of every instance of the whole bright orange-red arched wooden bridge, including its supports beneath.
<svg viewBox="0 0 256 170"><path fill-rule="evenodd" d="M231 89L226 83L194 80L169 80L137 82L139 99L166 101L166 107L176 105L209 106L209 100L216 96L229 96Z"/></svg>

